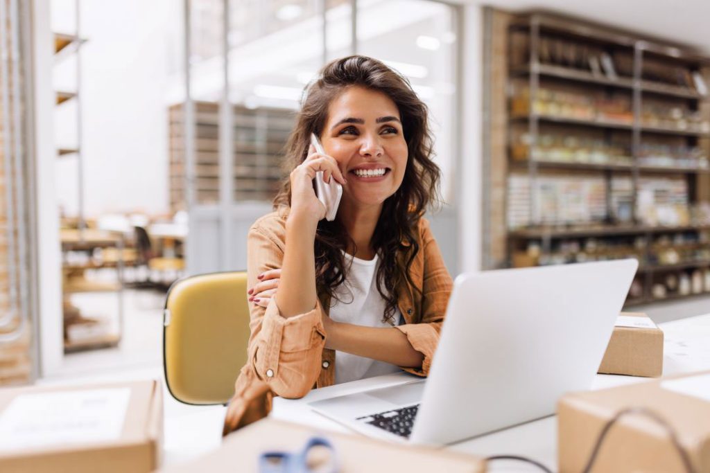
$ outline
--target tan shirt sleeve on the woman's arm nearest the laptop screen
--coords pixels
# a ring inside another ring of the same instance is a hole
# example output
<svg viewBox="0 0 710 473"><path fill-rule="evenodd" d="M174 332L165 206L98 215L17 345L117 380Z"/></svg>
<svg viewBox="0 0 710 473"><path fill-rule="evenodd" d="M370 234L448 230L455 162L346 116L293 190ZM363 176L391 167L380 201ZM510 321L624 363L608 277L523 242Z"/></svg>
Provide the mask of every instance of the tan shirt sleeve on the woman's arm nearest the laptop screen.
<svg viewBox="0 0 710 473"><path fill-rule="evenodd" d="M439 245L437 245L425 218L421 219L419 230L422 259L419 260L417 267L410 268L410 270L422 273L422 299L421 306L418 308L421 318L418 323L398 325L397 328L407 335L410 345L424 355L420 368L402 367L402 369L417 374L417 376L427 376L437 345L439 345L439 333L449 303L453 281L444 264Z"/></svg>

